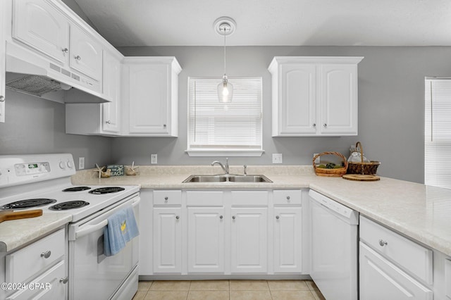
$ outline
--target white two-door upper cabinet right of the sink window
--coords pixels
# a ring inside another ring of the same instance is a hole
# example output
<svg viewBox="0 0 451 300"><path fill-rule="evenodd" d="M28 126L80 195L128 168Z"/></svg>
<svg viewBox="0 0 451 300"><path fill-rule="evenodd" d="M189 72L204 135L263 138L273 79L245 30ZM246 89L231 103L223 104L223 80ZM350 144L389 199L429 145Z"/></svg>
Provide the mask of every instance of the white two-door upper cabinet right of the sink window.
<svg viewBox="0 0 451 300"><path fill-rule="evenodd" d="M357 135L357 63L362 57L277 56L273 137Z"/></svg>

